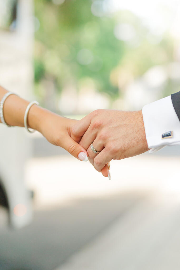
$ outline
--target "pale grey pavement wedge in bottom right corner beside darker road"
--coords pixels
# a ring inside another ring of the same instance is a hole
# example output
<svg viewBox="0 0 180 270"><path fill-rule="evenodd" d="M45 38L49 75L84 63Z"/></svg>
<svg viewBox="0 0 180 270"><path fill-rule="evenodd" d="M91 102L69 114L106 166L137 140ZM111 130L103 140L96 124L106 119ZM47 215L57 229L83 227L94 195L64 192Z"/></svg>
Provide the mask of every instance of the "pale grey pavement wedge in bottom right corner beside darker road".
<svg viewBox="0 0 180 270"><path fill-rule="evenodd" d="M166 199L140 201L56 270L179 270L180 204Z"/></svg>

